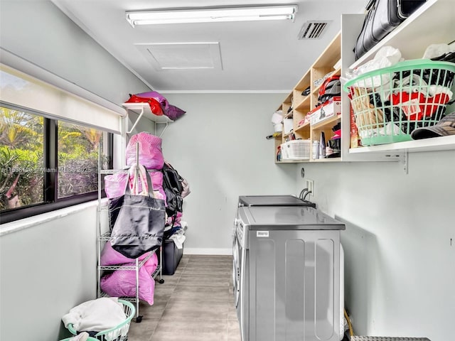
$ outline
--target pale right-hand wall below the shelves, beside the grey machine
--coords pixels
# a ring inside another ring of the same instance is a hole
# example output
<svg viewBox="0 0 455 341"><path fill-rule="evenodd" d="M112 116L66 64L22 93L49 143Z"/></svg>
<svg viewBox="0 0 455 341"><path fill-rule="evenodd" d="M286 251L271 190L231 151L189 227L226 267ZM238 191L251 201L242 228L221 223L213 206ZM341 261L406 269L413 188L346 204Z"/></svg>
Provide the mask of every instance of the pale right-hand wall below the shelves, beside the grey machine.
<svg viewBox="0 0 455 341"><path fill-rule="evenodd" d="M346 222L346 308L357 335L454 339L455 151L402 163L303 163L297 188Z"/></svg>

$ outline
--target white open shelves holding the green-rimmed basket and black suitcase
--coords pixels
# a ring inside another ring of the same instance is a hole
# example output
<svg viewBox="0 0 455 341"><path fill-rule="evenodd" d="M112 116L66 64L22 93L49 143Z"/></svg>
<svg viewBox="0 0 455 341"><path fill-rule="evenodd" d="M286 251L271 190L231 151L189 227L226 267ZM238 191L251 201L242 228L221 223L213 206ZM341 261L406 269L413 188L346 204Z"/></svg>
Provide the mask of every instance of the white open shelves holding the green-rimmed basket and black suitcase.
<svg viewBox="0 0 455 341"><path fill-rule="evenodd" d="M363 65L373 59L375 54L385 45L399 48L402 57L406 60L419 59L424 55L427 47L434 43L450 43L454 40L455 20L453 15L453 1L451 0L428 0L411 14L394 31L385 36L368 53L365 53L359 60L353 60L353 53L346 50L342 55L345 69L353 69ZM362 14L344 14L342 16L342 31L360 31L365 16ZM355 35L356 37L356 35ZM349 36L345 35L348 39ZM352 38L350 38L352 40ZM354 40L349 41L348 45L353 45ZM348 99L346 92L343 92L342 112L348 112ZM449 110L449 108L448 108ZM453 111L453 109L452 109ZM446 112L447 114L450 111ZM348 115L346 115L348 116ZM345 117L346 117L345 116ZM343 131L348 132L350 122L346 120ZM346 148L347 147L347 148ZM378 146L364 146L359 148L348 148L348 141L344 150L348 149L348 158L368 157L379 155L380 153L414 153L423 151L449 151L455 150L455 136L441 136L431 139L397 142L392 144L382 144Z"/></svg>

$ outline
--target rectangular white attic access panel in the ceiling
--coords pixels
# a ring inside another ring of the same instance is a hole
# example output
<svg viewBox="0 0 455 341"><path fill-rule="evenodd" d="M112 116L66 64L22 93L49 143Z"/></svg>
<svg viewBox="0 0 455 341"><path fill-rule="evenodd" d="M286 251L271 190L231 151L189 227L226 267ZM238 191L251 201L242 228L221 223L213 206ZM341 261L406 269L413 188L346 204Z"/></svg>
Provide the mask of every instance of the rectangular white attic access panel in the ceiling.
<svg viewBox="0 0 455 341"><path fill-rule="evenodd" d="M221 65L220 43L135 44L156 70L215 69Z"/></svg>

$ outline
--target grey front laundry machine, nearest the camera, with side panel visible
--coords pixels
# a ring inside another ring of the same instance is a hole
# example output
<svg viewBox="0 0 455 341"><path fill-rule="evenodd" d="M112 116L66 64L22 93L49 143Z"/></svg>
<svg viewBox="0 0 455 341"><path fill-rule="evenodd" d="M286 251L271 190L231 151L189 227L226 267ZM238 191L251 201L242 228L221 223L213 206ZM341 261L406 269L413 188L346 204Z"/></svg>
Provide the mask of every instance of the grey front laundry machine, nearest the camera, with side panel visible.
<svg viewBox="0 0 455 341"><path fill-rule="evenodd" d="M242 341L338 341L340 231L313 207L240 207L233 244Z"/></svg>

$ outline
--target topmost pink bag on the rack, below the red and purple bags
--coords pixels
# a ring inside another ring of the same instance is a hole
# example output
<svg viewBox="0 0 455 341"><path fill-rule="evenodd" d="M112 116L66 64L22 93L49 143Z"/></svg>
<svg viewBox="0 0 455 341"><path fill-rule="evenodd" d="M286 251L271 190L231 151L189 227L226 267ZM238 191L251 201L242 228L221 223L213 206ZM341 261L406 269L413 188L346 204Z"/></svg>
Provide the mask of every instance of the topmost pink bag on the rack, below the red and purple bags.
<svg viewBox="0 0 455 341"><path fill-rule="evenodd" d="M127 165L132 166L136 161L136 144L139 144L139 165L147 169L163 168L164 158L161 151L161 139L145 131L135 134L129 139L126 156Z"/></svg>

